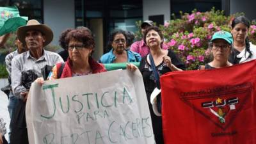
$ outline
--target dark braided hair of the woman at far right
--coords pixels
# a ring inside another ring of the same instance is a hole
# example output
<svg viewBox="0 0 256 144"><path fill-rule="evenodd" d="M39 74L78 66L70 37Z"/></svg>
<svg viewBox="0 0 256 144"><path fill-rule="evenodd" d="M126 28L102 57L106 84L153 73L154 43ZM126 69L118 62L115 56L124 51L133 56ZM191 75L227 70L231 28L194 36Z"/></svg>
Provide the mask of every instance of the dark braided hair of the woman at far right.
<svg viewBox="0 0 256 144"><path fill-rule="evenodd" d="M232 23L231 23L232 29L234 29L235 26L240 23L244 24L248 29L250 28L250 20L244 16L239 16L239 17L236 17L236 19L232 20ZM250 40L249 40L248 36L245 38L245 51L249 52L248 58L251 58L252 51L250 51Z"/></svg>

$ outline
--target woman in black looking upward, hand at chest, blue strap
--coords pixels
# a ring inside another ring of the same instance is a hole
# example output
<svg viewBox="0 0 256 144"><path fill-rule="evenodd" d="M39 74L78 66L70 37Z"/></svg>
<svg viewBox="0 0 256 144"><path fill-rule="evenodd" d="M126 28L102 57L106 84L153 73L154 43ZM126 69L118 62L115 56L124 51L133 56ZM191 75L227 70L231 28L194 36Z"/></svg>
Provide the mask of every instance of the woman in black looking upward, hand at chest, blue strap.
<svg viewBox="0 0 256 144"><path fill-rule="evenodd" d="M162 144L164 143L162 118L161 116L156 116L154 114L152 104L150 104L150 95L155 88L160 89L159 76L166 72L182 71L182 69L185 69L185 66L173 51L161 49L161 45L163 44L163 34L159 28L155 26L147 28L143 39L150 49L150 54L147 54L147 56L142 58L139 69L145 84L156 143ZM161 110L161 99L158 99L157 101L159 110Z"/></svg>

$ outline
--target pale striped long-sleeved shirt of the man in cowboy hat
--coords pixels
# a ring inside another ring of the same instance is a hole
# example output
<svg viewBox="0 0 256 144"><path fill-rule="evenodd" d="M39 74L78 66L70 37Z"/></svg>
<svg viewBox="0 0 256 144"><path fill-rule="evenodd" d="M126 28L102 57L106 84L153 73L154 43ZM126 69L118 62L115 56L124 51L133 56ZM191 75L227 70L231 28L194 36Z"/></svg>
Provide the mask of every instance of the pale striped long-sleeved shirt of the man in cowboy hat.
<svg viewBox="0 0 256 144"><path fill-rule="evenodd" d="M54 66L58 62L63 62L59 54L45 50L38 60L33 58L29 51L15 56L12 60L12 90L14 95L23 99L20 93L28 91L22 85L22 72L35 70L36 73L41 74L41 68L45 65Z"/></svg>

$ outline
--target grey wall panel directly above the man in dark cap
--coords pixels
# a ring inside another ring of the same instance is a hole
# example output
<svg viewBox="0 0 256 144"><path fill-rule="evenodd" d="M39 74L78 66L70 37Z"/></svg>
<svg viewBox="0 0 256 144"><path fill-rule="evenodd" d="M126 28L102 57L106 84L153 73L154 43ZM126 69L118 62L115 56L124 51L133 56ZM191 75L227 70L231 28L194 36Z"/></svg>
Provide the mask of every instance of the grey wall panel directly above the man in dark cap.
<svg viewBox="0 0 256 144"><path fill-rule="evenodd" d="M143 0L143 20L150 15L164 15L164 21L170 20L170 0Z"/></svg>

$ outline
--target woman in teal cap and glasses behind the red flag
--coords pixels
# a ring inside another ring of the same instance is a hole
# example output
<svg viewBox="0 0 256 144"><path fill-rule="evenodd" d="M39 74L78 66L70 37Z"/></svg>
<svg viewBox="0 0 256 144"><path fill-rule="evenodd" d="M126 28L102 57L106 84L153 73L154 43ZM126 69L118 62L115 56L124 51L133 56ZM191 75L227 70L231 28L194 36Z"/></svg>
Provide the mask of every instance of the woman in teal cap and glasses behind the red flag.
<svg viewBox="0 0 256 144"><path fill-rule="evenodd" d="M228 62L228 56L231 52L232 43L232 35L227 31L214 33L210 43L213 60L206 65L201 65L198 69L204 70L231 66L232 63Z"/></svg>

